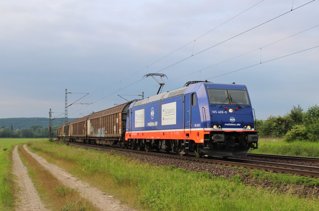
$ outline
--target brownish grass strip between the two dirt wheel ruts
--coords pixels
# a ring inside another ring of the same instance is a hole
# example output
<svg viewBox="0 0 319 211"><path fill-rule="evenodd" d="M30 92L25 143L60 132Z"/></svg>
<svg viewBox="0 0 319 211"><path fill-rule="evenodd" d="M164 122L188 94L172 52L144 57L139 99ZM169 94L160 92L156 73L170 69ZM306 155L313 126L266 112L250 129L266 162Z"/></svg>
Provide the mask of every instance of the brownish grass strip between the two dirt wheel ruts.
<svg viewBox="0 0 319 211"><path fill-rule="evenodd" d="M23 164L40 197L50 210L98 210L90 201L82 198L77 189L65 187L46 171L23 147L18 147Z"/></svg>

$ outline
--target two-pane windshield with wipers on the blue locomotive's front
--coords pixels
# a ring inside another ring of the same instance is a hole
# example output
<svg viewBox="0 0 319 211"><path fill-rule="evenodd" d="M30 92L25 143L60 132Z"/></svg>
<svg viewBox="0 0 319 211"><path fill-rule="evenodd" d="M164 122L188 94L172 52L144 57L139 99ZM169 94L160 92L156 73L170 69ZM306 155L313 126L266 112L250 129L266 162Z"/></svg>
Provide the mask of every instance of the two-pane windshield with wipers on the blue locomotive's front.
<svg viewBox="0 0 319 211"><path fill-rule="evenodd" d="M207 89L210 104L249 105L246 90Z"/></svg>

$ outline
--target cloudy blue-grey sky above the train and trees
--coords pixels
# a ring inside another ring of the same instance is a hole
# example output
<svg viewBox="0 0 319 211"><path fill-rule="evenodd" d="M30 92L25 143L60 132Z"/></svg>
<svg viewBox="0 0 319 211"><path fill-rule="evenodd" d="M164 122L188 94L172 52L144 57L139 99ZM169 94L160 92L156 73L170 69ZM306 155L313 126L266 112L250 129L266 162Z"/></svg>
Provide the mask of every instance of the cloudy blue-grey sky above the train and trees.
<svg viewBox="0 0 319 211"><path fill-rule="evenodd" d="M150 73L167 75L162 92L245 84L257 119L306 111L319 104L318 9L319 0L0 0L0 118L50 108L64 117L65 89L68 118L83 117L156 94Z"/></svg>

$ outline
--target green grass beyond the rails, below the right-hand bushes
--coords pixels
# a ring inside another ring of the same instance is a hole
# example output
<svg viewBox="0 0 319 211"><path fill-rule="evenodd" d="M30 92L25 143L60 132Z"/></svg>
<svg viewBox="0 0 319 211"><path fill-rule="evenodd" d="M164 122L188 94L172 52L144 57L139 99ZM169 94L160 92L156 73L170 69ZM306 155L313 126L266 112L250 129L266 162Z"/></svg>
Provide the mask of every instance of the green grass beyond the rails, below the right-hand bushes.
<svg viewBox="0 0 319 211"><path fill-rule="evenodd" d="M250 153L319 157L319 142L294 141L284 142L282 138L260 138L258 149Z"/></svg>

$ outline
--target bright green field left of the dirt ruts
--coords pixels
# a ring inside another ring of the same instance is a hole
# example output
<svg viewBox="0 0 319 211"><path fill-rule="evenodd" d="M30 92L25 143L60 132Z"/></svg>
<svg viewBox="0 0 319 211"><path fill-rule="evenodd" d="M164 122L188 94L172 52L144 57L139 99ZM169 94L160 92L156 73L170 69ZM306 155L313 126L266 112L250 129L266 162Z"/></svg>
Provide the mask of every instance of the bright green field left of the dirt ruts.
<svg viewBox="0 0 319 211"><path fill-rule="evenodd" d="M13 210L14 206L14 181L11 173L14 146L38 140L41 139L0 139L0 210Z"/></svg>

